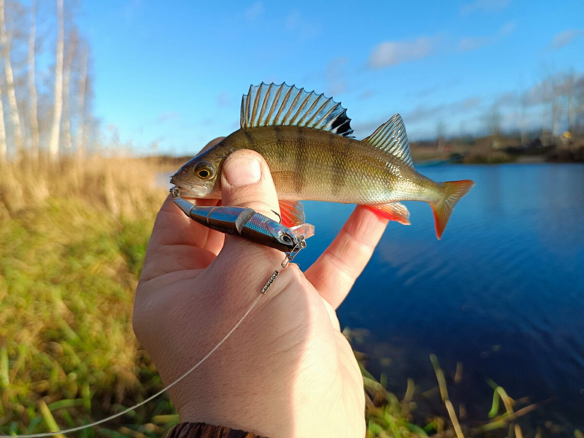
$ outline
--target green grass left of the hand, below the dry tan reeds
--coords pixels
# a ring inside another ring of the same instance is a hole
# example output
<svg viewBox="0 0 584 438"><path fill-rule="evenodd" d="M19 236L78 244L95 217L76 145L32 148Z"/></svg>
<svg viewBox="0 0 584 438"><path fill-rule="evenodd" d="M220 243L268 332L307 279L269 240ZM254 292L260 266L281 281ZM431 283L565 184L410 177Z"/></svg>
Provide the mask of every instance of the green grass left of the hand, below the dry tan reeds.
<svg viewBox="0 0 584 438"><path fill-rule="evenodd" d="M69 427L161 387L131 328L154 216L116 218L83 201L47 199L0 222L3 433L47 430L41 401ZM151 418L173 413L161 398L118 423L158 436L164 427L148 425Z"/></svg>

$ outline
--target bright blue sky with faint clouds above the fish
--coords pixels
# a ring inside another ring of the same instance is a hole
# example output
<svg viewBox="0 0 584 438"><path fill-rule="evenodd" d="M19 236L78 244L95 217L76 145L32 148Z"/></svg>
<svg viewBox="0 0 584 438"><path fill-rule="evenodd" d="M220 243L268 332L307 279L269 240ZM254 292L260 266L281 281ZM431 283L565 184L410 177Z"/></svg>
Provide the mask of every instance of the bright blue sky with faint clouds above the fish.
<svg viewBox="0 0 584 438"><path fill-rule="evenodd" d="M239 128L241 96L262 81L332 96L359 139L395 113L411 140L479 133L495 104L517 126L517 96L584 74L582 18L582 0L102 0L76 21L106 137L194 155Z"/></svg>

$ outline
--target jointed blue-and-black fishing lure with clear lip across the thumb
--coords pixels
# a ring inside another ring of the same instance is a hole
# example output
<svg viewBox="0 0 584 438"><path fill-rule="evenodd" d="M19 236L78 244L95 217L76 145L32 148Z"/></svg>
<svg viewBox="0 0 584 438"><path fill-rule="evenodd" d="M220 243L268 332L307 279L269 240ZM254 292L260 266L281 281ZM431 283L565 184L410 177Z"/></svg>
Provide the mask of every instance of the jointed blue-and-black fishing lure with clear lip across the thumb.
<svg viewBox="0 0 584 438"><path fill-rule="evenodd" d="M253 208L196 206L180 196L173 201L193 221L211 230L241 236L283 252L293 251L301 241L314 235L314 225L286 227Z"/></svg>

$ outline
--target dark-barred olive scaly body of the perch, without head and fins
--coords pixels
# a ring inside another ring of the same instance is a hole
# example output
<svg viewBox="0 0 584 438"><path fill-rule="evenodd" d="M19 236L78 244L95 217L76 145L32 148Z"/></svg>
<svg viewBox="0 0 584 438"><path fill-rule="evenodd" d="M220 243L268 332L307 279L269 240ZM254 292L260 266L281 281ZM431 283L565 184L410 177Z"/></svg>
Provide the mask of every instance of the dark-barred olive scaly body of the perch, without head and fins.
<svg viewBox="0 0 584 438"><path fill-rule="evenodd" d="M357 203L379 204L405 200L404 196L425 200L420 199L425 190L416 189L420 184L440 190L437 183L400 167L383 151L325 131L297 126L249 128L236 131L223 143L230 151L252 149L262 155L281 199L343 203L357 199Z"/></svg>

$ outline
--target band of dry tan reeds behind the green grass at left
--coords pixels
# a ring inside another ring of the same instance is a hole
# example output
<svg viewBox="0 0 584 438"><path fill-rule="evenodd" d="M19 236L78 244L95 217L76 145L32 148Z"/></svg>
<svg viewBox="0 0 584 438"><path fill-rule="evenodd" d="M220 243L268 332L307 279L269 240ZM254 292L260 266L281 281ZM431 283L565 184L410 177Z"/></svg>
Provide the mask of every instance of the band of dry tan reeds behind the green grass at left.
<svg viewBox="0 0 584 438"><path fill-rule="evenodd" d="M164 200L164 189L155 182L163 170L171 172L157 158L99 155L58 162L28 158L0 162L0 220L42 206L51 198L83 201L114 217L135 217L151 212Z"/></svg>

